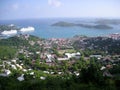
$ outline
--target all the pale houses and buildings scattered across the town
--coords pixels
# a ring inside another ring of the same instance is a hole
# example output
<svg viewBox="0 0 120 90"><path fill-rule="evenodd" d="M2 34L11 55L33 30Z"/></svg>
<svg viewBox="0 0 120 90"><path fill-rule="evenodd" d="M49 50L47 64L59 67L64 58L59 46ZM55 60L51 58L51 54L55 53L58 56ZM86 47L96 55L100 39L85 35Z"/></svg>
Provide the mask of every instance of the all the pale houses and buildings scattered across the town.
<svg viewBox="0 0 120 90"><path fill-rule="evenodd" d="M118 39L120 35L115 34L115 35L111 35L111 38L114 39ZM21 37L18 36L18 37ZM30 37L29 35L22 35L22 37L25 40L28 40L28 38ZM81 37L80 37L81 38ZM77 40L77 38L74 38L75 40ZM83 40L86 39L82 38L80 42L84 43ZM73 40L73 39L71 39ZM57 56L55 53L52 52L52 48L56 45L56 50L61 50L61 49L73 49L73 46L71 44L71 40L70 39L48 39L48 40L38 40L38 41L29 41L29 44L31 46L34 46L35 43L37 43L40 47L43 48L42 51L37 50L36 52L30 52L26 49L26 47L23 47L22 49L19 50L18 53L22 53L24 54L27 58L30 56L34 56L35 54L38 55L40 57L40 59L43 61L45 61L46 63L54 63L55 60L58 61L68 61L71 59L74 60L80 60L81 57L81 53L80 52L65 52L62 57L61 56ZM86 43L84 43L85 45ZM82 44L81 44L82 46ZM81 47L82 48L82 47ZM112 65L115 64L115 60L109 60L109 59L105 59L105 57L103 58L102 55L90 55L89 58L95 57L98 60L101 60L104 64L106 63L106 65L102 66L100 68L100 70L105 70L104 71L104 75L110 76L111 74L109 72L107 72L107 68L112 68ZM12 74L12 70L20 70L22 72L21 75L19 75L16 79L18 79L19 81L24 81L25 80L25 75L27 73L27 75L31 75L33 76L33 78L35 78L35 72L34 70L32 70L31 68L25 68L25 65L23 64L22 60L19 59L15 59L15 60L9 60L9 61L1 61L2 63L0 64L0 76L3 77L8 77ZM41 61L40 61L41 62ZM108 66L108 62L112 62L111 66ZM120 60L118 61L120 62ZM55 74L55 72L53 71L42 71L44 74ZM64 72L62 71L58 71L57 74L61 75ZM74 71L71 74L75 74L76 76L79 76L80 73L77 71ZM41 80L45 80L46 77L45 76L40 76L39 77Z"/></svg>

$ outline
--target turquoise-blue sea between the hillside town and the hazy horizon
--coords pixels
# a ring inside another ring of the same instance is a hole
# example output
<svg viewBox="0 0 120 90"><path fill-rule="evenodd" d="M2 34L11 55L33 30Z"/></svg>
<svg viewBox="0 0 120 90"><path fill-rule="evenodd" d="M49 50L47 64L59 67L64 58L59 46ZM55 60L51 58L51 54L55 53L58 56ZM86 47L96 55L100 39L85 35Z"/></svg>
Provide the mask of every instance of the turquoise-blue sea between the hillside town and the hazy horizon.
<svg viewBox="0 0 120 90"><path fill-rule="evenodd" d="M82 27L55 27L51 26L53 23L59 21L66 22L89 22L87 19L31 19L31 20L4 20L0 21L0 24L15 24L22 27L33 26L34 32L29 32L31 35L35 35L42 38L70 38L75 35L86 36L101 36L112 33L120 33L120 25L114 26L114 29L101 30L101 29L88 29ZM92 20L91 20L92 21Z"/></svg>

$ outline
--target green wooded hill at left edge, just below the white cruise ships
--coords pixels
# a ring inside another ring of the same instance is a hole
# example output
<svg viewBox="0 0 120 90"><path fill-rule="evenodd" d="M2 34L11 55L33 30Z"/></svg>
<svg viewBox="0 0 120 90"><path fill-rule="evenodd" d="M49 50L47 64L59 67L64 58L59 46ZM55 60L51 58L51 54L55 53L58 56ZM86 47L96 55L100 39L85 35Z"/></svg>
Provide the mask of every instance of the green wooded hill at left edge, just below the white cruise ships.
<svg viewBox="0 0 120 90"><path fill-rule="evenodd" d="M36 45L31 46L30 41L35 42L40 40L38 37L31 35L17 35L7 39L0 40L0 59L7 60L16 56L16 53L23 48L28 47L28 50L34 50ZM33 47L29 49L30 47Z"/></svg>

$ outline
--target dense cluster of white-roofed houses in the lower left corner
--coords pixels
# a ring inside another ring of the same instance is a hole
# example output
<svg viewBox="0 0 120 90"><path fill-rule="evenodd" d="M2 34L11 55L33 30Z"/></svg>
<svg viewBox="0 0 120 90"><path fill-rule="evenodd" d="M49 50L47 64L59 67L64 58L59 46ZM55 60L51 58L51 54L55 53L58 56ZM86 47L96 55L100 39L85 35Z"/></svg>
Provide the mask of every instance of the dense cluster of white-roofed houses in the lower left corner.
<svg viewBox="0 0 120 90"><path fill-rule="evenodd" d="M31 75L33 76L33 78L35 77L35 72L31 69L25 69L24 68L24 64L22 63L22 61L19 60L11 60L11 61L3 61L2 64L0 65L0 76L3 77L9 77L13 72L12 70L20 70L22 72L21 75L19 75L17 77L17 80L19 81L23 81L25 80L25 73L27 73L27 75ZM40 76L41 80L45 80L44 76Z"/></svg>

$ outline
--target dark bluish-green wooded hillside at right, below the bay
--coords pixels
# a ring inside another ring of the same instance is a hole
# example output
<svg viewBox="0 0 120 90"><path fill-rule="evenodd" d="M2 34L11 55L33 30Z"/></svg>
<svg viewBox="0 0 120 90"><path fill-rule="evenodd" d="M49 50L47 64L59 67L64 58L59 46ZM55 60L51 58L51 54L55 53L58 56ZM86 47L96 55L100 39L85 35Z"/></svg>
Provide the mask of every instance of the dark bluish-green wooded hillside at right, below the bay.
<svg viewBox="0 0 120 90"><path fill-rule="evenodd" d="M81 42L75 41L74 42L74 47L76 49L81 48L84 46L85 49L87 49L85 52L89 53L89 51L91 52L91 50L96 51L93 54L99 54L99 53L109 53L109 54L120 54L120 40L114 40L111 38L102 38L102 37L98 37L98 38L90 38L90 39L86 39L84 40L85 45L82 45ZM91 50L90 50L91 49ZM92 52L93 52L92 51ZM99 52L99 53L98 53ZM92 53L90 53L92 54ZM90 55L89 54L89 55Z"/></svg>

